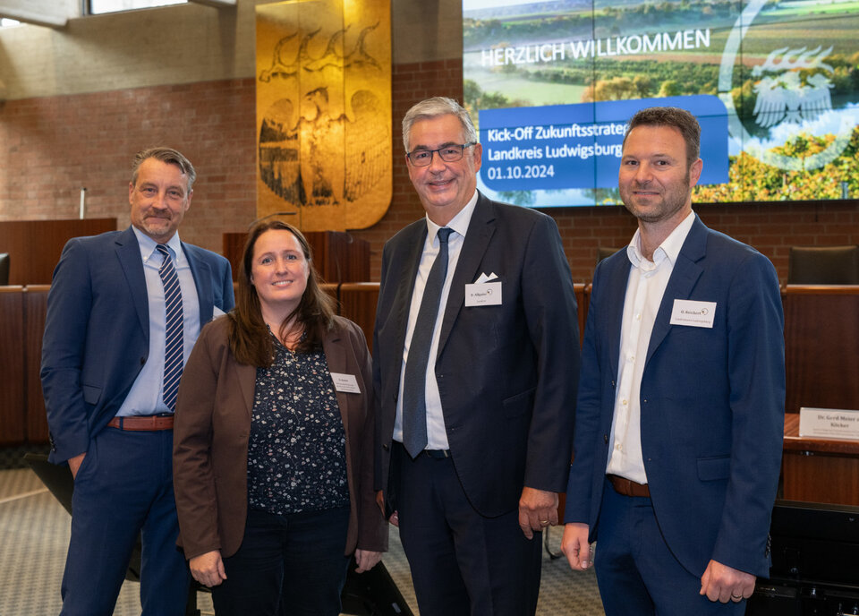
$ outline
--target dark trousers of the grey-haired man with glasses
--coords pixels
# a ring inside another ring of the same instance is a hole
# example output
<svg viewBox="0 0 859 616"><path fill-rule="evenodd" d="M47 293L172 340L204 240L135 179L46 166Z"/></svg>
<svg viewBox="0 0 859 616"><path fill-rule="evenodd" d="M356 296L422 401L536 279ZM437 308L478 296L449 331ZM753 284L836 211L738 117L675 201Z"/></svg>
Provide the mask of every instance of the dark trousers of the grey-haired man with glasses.
<svg viewBox="0 0 859 616"><path fill-rule="evenodd" d="M474 510L451 458L412 459L395 442L400 540L421 616L525 616L537 610L542 533L530 541L516 507Z"/></svg>

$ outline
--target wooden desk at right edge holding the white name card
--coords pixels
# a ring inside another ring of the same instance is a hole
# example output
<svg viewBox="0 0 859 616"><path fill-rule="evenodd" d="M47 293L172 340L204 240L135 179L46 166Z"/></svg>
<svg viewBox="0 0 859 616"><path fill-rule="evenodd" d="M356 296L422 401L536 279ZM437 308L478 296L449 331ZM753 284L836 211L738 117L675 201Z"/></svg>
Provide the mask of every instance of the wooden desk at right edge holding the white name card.
<svg viewBox="0 0 859 616"><path fill-rule="evenodd" d="M859 441L799 436L799 414L785 415L782 458L787 500L859 506Z"/></svg>

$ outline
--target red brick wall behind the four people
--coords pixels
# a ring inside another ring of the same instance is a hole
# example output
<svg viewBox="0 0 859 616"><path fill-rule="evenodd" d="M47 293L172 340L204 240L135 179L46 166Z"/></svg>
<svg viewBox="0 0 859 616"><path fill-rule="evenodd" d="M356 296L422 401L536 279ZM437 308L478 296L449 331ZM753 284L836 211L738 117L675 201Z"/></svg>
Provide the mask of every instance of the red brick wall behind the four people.
<svg viewBox="0 0 859 616"><path fill-rule="evenodd" d="M399 121L412 104L436 95L462 97L459 59L395 64L393 200L378 224L354 232L370 242L374 280L387 238L423 213L406 173ZM0 104L0 219L75 218L86 186L88 216L115 216L125 227L131 157L165 143L183 150L199 172L183 239L220 252L223 232L256 218L254 113L251 78L7 101ZM695 210L710 227L770 257L782 279L792 244L859 244L856 201ZM576 281L590 279L599 246L622 246L635 228L617 206L546 211L557 220Z"/></svg>

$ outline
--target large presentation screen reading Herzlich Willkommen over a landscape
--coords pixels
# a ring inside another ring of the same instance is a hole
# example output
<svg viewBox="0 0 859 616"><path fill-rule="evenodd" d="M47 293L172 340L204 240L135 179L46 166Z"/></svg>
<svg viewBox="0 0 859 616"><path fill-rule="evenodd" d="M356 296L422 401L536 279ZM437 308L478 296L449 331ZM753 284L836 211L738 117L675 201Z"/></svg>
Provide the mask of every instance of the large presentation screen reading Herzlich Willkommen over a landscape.
<svg viewBox="0 0 859 616"><path fill-rule="evenodd" d="M531 207L615 205L625 123L702 127L693 201L859 195L859 0L464 0L479 188Z"/></svg>

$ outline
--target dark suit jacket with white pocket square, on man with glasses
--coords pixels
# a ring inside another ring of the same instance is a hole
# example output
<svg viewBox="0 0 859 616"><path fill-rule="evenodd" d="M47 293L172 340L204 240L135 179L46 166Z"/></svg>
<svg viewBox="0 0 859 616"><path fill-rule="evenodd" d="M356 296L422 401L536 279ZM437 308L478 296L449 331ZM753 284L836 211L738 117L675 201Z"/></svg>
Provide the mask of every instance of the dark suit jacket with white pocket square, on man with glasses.
<svg viewBox="0 0 859 616"><path fill-rule="evenodd" d="M396 398L425 219L385 245L373 343L377 487L387 488ZM498 274L503 304L465 307L465 285ZM579 372L569 265L555 221L480 195L441 327L435 371L456 473L484 516L515 509L523 485L564 490ZM391 497L390 494L387 494Z"/></svg>

